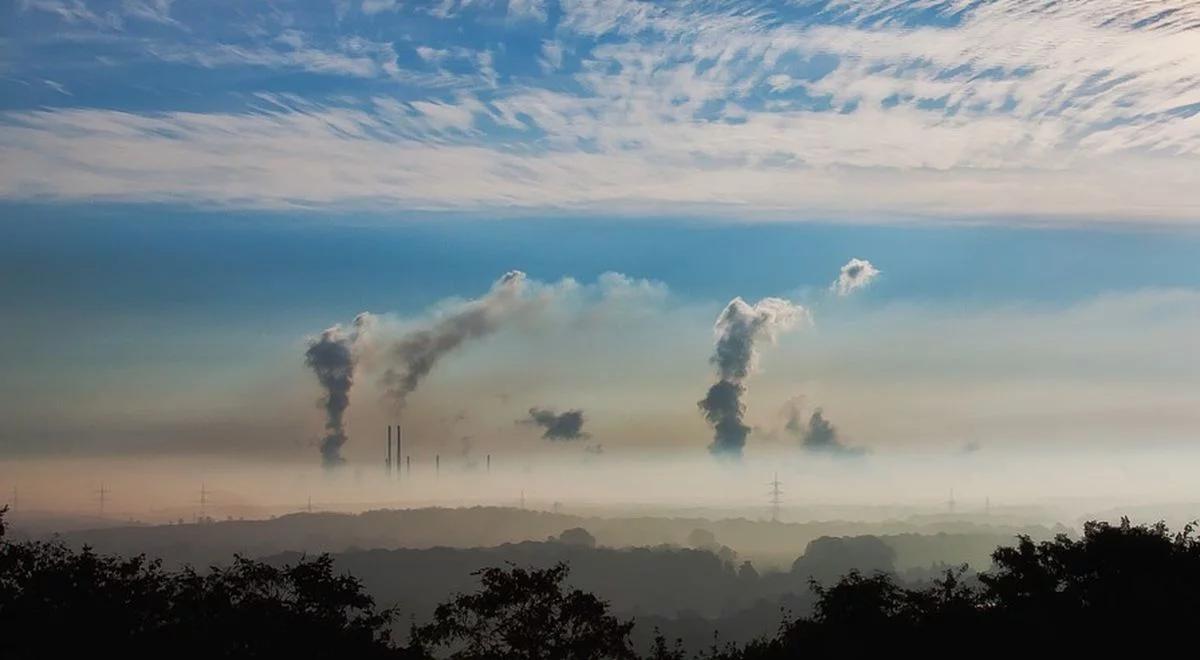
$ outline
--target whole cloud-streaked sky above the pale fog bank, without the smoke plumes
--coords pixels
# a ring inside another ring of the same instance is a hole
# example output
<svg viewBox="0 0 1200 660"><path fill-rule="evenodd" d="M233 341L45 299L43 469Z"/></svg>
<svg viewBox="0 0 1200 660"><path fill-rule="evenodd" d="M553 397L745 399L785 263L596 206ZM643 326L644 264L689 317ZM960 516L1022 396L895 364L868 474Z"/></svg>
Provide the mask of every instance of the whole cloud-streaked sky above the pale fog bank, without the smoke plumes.
<svg viewBox="0 0 1200 660"><path fill-rule="evenodd" d="M796 312L746 320L748 457L1190 448L1198 28L1128 0L5 2L0 462L317 464L305 352L335 325L352 464L401 416L463 461L713 460L738 296ZM839 289L852 259L877 274ZM512 270L401 409L409 340Z"/></svg>

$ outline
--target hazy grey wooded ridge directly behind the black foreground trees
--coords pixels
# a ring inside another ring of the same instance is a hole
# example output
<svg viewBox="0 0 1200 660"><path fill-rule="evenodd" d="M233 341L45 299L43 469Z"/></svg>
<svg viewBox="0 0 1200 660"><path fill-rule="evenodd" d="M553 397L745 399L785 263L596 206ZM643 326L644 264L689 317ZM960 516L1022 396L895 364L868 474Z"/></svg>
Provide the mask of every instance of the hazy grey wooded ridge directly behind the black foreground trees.
<svg viewBox="0 0 1200 660"><path fill-rule="evenodd" d="M722 638L745 642L774 631L780 611L808 613L812 606L810 580L833 581L850 570L896 571L896 552L876 536L821 538L793 560L790 570L760 572L749 562L716 542L703 529L694 530L694 547L598 547L582 528L553 540L505 544L486 548L371 550L334 554L338 570L362 580L377 602L395 604L400 620L424 622L438 604L456 592L478 587L472 575L480 566L520 565L547 569L571 566L574 587L604 598L619 616L647 625L635 629L644 644L660 628L690 644ZM992 546L995 548L995 546ZM302 553L264 558L287 565ZM928 577L905 571L901 577Z"/></svg>

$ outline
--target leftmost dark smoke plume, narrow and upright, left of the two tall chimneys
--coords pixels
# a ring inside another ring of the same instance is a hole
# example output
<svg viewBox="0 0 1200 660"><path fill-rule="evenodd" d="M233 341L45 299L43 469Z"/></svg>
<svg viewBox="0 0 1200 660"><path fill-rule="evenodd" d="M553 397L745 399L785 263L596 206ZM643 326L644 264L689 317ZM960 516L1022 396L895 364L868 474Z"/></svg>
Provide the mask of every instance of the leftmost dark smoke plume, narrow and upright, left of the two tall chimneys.
<svg viewBox="0 0 1200 660"><path fill-rule="evenodd" d="M320 439L320 457L325 467L344 462L342 445L347 438L343 416L350 406L350 386L354 384L352 344L353 338L335 325L310 341L305 352L305 364L325 390L320 402L325 408L325 437Z"/></svg>

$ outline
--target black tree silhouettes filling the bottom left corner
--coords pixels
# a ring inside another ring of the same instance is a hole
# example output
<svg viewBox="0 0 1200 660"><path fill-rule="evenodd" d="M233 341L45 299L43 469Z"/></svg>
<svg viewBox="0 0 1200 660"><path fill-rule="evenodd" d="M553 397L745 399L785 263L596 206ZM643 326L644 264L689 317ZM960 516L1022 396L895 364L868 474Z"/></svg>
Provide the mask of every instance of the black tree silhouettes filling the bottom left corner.
<svg viewBox="0 0 1200 660"><path fill-rule="evenodd" d="M0 511L0 658L398 658L390 610L328 556L200 574L143 556L8 542Z"/></svg>

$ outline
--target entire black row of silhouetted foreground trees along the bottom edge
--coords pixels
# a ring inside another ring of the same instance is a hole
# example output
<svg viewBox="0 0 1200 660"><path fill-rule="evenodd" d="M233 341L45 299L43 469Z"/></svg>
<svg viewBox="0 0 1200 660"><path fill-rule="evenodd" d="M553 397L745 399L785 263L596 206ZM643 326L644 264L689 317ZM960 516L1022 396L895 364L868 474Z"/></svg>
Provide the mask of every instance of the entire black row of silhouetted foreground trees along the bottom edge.
<svg viewBox="0 0 1200 660"><path fill-rule="evenodd" d="M0 517L0 658L628 659L632 620L566 587L568 568L479 571L480 587L389 637L392 611L376 608L328 557L270 566L236 559L199 574L142 557L102 557L59 544L8 542ZM970 580L947 571L920 588L856 571L812 583L814 613L749 644L714 643L697 656L774 659L876 653L995 655L1194 644L1200 623L1200 541L1189 526L1088 523L1080 539L1021 538ZM661 637L656 660L686 656Z"/></svg>

